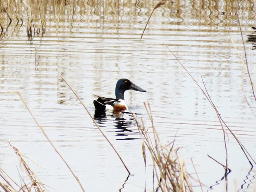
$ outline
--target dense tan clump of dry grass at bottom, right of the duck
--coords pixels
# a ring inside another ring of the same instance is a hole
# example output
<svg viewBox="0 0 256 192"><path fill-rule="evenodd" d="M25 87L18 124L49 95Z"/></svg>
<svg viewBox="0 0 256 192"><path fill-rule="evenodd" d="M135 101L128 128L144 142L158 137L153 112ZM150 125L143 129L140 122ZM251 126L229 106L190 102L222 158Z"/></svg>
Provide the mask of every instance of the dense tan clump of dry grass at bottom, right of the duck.
<svg viewBox="0 0 256 192"><path fill-rule="evenodd" d="M190 181L192 176L186 172L184 161L177 154L178 148L174 147L175 141L169 144L161 143L156 128L154 127L150 105L145 105L145 108L148 112L149 119L151 120L154 139L151 139L151 134L148 132L148 128L145 127L143 120L143 126L141 127L134 113L133 116L137 122L139 131L144 137L142 151L145 166L146 148L153 160L154 173L157 178L157 187L154 191L192 192L192 183Z"/></svg>

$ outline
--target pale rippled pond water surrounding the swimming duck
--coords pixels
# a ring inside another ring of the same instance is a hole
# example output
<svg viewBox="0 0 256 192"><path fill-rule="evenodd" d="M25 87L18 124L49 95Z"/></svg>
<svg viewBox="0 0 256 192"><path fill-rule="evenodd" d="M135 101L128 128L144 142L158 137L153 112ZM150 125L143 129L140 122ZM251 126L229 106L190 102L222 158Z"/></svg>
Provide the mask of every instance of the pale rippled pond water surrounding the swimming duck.
<svg viewBox="0 0 256 192"><path fill-rule="evenodd" d="M211 186L212 191L225 191L225 181L218 182L224 169L207 156L225 164L220 123L204 94L169 49L201 87L201 78L204 79L222 118L256 158L256 117L252 112L256 112L256 104L250 80L229 36L244 59L240 30L231 6L240 10L242 32L246 34L252 31L251 26L256 26L252 3L236 6L236 1L167 2L155 10L142 41L140 35L157 1L79 0L75 1L74 14L73 2L63 4L65 11L61 12L60 5L55 5L59 20L54 16L52 3L41 9L43 13L47 10L45 34L42 36L40 31L32 38L27 36L25 11L23 26L19 23L15 27L17 23L13 22L6 32L7 16L1 12L5 16L1 20L5 33L0 41L0 140L9 140L44 166L42 169L29 163L43 183L57 191L81 191L15 91L20 91L86 191L118 191L128 174L61 76L93 116L92 102L96 97L91 93L114 97L116 81L128 78L147 90L125 93L131 111L150 127L143 105L149 102L162 142L171 142L177 133L175 145L180 147L179 154L187 170L194 173L192 157L204 191ZM35 29L40 28L40 20L34 20ZM250 75L255 82L256 52L245 35L244 41ZM133 175L122 191L143 191L145 179L146 188L152 190L152 166L148 163L145 177L142 139L131 115L107 112L95 119ZM232 169L227 177L228 191L255 191L255 170L249 172L250 164L230 133L227 140L228 164ZM14 151L4 147L1 157L1 168L19 179ZM150 162L149 154L147 159ZM201 191L194 183L195 191Z"/></svg>

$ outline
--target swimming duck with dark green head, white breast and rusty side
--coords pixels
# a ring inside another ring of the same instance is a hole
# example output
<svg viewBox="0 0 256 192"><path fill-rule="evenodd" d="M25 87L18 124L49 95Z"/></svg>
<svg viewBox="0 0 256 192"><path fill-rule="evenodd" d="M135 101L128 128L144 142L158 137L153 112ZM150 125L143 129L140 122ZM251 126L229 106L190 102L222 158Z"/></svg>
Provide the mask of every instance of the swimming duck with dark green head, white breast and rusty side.
<svg viewBox="0 0 256 192"><path fill-rule="evenodd" d="M124 93L126 90L136 90L140 92L146 92L146 90L138 87L136 84L131 82L129 79L119 79L116 83L116 99L110 97L101 97L97 96L98 99L93 101L94 107L96 111L105 111L105 110L113 110L113 111L125 111L128 109L128 106L125 103Z"/></svg>

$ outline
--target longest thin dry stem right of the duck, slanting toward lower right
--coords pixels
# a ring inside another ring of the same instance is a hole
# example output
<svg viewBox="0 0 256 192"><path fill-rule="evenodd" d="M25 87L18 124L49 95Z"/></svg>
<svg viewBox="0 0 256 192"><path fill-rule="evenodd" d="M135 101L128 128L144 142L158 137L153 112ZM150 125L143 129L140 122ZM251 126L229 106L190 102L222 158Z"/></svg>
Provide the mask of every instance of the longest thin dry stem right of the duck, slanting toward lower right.
<svg viewBox="0 0 256 192"><path fill-rule="evenodd" d="M167 46L166 46L167 47ZM167 47L167 49L169 49ZM169 49L169 51L173 54L173 52ZM176 55L174 55L174 57L177 59L177 61L181 64L181 66L186 70L186 67L180 62L180 60L176 57ZM217 110L217 108L215 108L215 106L213 105L213 103L210 101L210 99L208 98L207 94L204 92L204 90L201 88L201 86L198 84L198 82L192 77L192 75L189 73L188 70L186 70L186 72L189 74L189 76L193 79L193 81L198 85L198 87L201 89L201 91L204 93L204 95L206 96L207 100L210 102L210 104L212 105L212 107L215 109L215 111ZM247 160L249 161L250 165L253 167L253 164L251 163L251 161L249 160L247 154L249 155L249 157L251 158L251 160L253 160L253 158L251 157L250 153L247 151L247 149L244 147L244 145L239 141L239 139L236 137L236 135L233 133L233 131L231 131L231 129L227 126L226 122L224 122L224 120L222 119L221 115L218 113L218 110L216 111L216 113L218 114L219 119L221 119L221 121L224 123L224 125L227 127L227 129L230 131L230 133L232 134L232 136L236 139L237 143L240 145L241 150L243 151L245 157L247 158ZM247 154L246 154L247 153ZM256 162L253 160L253 162L256 164Z"/></svg>

